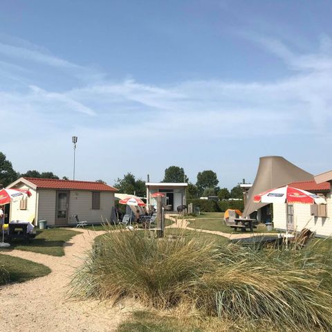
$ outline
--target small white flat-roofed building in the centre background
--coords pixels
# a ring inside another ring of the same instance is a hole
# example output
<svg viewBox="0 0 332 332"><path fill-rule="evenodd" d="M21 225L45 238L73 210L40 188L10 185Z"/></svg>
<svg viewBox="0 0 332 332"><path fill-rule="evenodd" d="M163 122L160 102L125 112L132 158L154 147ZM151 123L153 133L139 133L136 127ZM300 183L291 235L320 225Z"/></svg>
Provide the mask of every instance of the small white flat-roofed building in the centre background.
<svg viewBox="0 0 332 332"><path fill-rule="evenodd" d="M156 199L151 197L155 192L165 194L166 204L170 205L170 210L176 211L179 205L187 204L186 188L187 183L145 183L147 187L147 205L156 205Z"/></svg>

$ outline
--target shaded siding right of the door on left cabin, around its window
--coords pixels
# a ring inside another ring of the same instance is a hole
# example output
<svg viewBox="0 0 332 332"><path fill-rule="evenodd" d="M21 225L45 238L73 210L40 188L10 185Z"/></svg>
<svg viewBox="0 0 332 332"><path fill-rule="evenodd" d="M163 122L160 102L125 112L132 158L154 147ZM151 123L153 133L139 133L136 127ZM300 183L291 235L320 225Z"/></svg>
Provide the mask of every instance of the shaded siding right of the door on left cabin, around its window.
<svg viewBox="0 0 332 332"><path fill-rule="evenodd" d="M100 210L92 210L92 192L73 190L70 193L69 216L77 214L80 221L101 223L102 219L110 220L113 207L113 192L100 192ZM75 220L69 219L68 223L75 223Z"/></svg>

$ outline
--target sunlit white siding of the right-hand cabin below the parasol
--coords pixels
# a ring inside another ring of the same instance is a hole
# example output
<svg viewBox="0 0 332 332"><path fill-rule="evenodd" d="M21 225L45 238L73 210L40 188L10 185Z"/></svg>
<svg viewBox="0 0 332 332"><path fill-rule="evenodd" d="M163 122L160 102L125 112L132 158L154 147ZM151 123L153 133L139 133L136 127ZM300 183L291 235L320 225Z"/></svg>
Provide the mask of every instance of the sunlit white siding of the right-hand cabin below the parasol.
<svg viewBox="0 0 332 332"><path fill-rule="evenodd" d="M300 232L308 228L317 236L332 236L332 199L331 192L326 198L327 217L311 216L311 205L294 204L294 228ZM280 230L286 230L286 204L273 204L273 224Z"/></svg>

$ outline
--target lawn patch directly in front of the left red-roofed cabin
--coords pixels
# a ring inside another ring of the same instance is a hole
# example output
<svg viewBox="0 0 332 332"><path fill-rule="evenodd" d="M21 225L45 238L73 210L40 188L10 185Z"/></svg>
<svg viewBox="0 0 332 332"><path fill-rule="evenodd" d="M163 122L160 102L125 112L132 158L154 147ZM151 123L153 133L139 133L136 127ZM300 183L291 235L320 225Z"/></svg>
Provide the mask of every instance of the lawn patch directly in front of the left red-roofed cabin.
<svg viewBox="0 0 332 332"><path fill-rule="evenodd" d="M39 252L45 255L63 256L64 243L69 241L76 234L79 234L79 232L66 228L37 230L37 236L35 239L30 239L30 242L26 243L22 239L12 239L10 248L0 249L0 252L1 250L19 249Z"/></svg>

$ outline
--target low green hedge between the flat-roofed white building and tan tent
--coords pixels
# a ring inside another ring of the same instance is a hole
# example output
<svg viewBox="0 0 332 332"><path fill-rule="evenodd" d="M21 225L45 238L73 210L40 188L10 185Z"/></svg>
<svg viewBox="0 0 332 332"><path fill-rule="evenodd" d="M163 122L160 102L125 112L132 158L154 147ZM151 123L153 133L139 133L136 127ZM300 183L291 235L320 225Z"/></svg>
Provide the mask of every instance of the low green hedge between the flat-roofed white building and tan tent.
<svg viewBox="0 0 332 332"><path fill-rule="evenodd" d="M188 199L187 204L192 203L194 208L199 208L201 212L225 212L227 209L243 211L243 201L211 201L208 199Z"/></svg>

